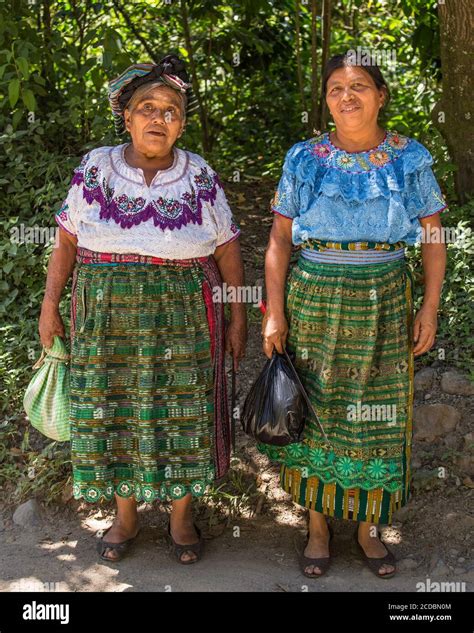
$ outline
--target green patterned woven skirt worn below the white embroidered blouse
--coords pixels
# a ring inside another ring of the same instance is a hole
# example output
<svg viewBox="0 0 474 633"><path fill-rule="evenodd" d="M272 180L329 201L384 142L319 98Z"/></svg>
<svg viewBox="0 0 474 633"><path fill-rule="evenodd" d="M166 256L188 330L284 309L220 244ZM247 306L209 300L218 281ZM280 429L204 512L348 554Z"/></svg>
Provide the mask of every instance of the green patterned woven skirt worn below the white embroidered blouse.
<svg viewBox="0 0 474 633"><path fill-rule="evenodd" d="M216 458L222 402L215 379L223 372L214 363L211 303L198 264L76 268L70 387L76 499L200 496L216 470L225 471ZM215 340L222 347L222 337Z"/></svg>

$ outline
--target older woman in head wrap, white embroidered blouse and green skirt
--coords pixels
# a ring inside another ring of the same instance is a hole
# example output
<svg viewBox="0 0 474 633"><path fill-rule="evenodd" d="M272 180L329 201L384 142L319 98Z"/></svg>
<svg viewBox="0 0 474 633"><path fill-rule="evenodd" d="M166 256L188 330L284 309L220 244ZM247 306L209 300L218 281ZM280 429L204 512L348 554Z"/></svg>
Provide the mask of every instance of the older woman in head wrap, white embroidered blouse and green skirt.
<svg viewBox="0 0 474 633"><path fill-rule="evenodd" d="M229 467L224 352L234 366L246 340L245 307L214 290L243 284L239 229L217 174L175 147L192 103L174 56L111 82L118 131L131 142L99 147L75 170L56 214L39 322L41 342L64 337L71 302L71 452L76 499L113 499L117 516L98 543L118 561L136 537L137 502L171 499L169 534L181 563L202 538L191 499Z"/></svg>

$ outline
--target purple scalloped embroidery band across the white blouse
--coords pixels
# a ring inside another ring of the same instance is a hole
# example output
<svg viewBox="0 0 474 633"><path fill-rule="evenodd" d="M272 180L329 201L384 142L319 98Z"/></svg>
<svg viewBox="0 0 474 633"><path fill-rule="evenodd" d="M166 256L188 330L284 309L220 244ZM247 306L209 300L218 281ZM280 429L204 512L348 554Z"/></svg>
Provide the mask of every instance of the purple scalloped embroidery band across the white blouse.
<svg viewBox="0 0 474 633"><path fill-rule="evenodd" d="M206 167L201 167L200 173L193 177L191 191L183 193L179 200L160 196L146 204L144 198L129 197L125 193L114 197L114 189L109 187L99 167L91 165L85 168L87 159L88 156L85 156L76 169L71 184L82 185L88 204L99 203L101 219L112 219L124 229L150 219L162 230L180 229L190 222L202 224L203 201L213 204L217 187L222 187L217 174L211 175Z"/></svg>

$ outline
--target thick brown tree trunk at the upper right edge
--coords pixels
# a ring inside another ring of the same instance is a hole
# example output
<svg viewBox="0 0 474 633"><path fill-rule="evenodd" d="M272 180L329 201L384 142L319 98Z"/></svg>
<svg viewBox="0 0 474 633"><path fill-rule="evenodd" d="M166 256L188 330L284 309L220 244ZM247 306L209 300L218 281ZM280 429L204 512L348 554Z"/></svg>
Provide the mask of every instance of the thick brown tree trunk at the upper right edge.
<svg viewBox="0 0 474 633"><path fill-rule="evenodd" d="M474 195L474 85L470 36L474 23L472 0L438 4L443 96L432 112L457 167L456 193L460 204Z"/></svg>

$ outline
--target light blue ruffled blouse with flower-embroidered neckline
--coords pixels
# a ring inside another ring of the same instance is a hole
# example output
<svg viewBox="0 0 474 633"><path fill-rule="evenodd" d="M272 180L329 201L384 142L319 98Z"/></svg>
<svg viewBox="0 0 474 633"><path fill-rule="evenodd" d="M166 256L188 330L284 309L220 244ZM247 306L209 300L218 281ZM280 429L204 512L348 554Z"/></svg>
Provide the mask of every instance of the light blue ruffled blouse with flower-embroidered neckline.
<svg viewBox="0 0 474 633"><path fill-rule="evenodd" d="M386 132L377 147L346 152L329 133L288 151L272 211L293 219L293 243L415 244L420 218L446 209L430 152L415 139Z"/></svg>

